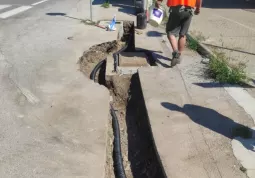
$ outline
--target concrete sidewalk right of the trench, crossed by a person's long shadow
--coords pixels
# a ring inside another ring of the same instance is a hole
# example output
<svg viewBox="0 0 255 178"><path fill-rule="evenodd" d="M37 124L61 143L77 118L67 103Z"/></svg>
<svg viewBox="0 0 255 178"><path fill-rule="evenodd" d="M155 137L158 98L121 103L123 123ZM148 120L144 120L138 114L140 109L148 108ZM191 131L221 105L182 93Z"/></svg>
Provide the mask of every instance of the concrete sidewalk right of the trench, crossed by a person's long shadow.
<svg viewBox="0 0 255 178"><path fill-rule="evenodd" d="M243 161L233 153L231 129L252 127L253 119L224 86L205 77L206 65L198 54L187 50L182 64L169 68L171 48L166 40L164 31L150 26L136 35L137 47L156 51L159 67L141 68L139 77L167 176L246 177L240 171ZM239 138L233 141L254 155Z"/></svg>

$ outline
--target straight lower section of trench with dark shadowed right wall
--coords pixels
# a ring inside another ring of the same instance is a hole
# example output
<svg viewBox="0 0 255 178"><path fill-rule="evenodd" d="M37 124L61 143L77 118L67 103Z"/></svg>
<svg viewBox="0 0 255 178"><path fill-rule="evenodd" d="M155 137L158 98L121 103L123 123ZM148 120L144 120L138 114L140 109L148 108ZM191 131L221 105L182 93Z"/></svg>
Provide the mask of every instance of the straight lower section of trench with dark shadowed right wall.
<svg viewBox="0 0 255 178"><path fill-rule="evenodd" d="M113 96L113 106L119 119L127 177L163 178L138 74L116 76L107 86ZM111 143L113 138L110 140Z"/></svg>

